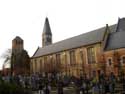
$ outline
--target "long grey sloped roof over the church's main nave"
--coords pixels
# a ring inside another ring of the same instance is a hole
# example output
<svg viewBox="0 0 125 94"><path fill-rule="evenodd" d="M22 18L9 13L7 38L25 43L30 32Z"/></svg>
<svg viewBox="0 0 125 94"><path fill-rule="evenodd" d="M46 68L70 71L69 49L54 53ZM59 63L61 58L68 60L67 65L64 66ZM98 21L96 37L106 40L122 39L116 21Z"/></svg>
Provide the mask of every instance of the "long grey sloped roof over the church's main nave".
<svg viewBox="0 0 125 94"><path fill-rule="evenodd" d="M114 26L115 25L111 26L112 29L114 29ZM35 52L35 54L33 55L33 57L39 57L39 56L43 56L43 55L47 55L55 52L60 52L67 49L77 48L80 46L101 42L104 36L104 32L105 32L105 27L102 27L100 29L97 29L88 33L84 33L84 34L54 43L52 45L48 45L41 48L39 47Z"/></svg>

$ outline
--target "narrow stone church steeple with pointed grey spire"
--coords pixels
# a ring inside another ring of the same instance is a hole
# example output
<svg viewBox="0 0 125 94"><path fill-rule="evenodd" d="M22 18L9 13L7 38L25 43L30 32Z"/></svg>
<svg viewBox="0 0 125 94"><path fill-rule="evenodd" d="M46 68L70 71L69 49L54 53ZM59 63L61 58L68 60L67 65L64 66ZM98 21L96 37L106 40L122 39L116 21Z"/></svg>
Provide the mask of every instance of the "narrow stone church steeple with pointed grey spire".
<svg viewBox="0 0 125 94"><path fill-rule="evenodd" d="M49 20L46 17L42 33L42 46L44 47L50 44L52 44L52 33L49 25Z"/></svg>

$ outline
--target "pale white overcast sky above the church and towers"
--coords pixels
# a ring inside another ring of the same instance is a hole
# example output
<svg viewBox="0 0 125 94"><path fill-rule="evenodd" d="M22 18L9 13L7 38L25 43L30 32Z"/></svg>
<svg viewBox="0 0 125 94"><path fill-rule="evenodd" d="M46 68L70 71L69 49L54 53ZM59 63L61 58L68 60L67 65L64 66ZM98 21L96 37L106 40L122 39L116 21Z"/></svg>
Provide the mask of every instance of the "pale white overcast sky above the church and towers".
<svg viewBox="0 0 125 94"><path fill-rule="evenodd" d="M117 23L125 17L125 0L0 0L0 55L20 36L32 56L42 46L46 16L57 42Z"/></svg>

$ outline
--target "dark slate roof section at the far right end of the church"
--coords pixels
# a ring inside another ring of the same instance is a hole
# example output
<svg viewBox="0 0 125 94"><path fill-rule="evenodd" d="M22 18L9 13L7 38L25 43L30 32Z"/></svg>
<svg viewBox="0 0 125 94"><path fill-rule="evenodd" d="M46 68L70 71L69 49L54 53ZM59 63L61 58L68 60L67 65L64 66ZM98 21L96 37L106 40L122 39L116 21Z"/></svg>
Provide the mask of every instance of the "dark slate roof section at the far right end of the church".
<svg viewBox="0 0 125 94"><path fill-rule="evenodd" d="M105 51L125 48L125 18L118 20L118 25L115 32L108 37Z"/></svg>

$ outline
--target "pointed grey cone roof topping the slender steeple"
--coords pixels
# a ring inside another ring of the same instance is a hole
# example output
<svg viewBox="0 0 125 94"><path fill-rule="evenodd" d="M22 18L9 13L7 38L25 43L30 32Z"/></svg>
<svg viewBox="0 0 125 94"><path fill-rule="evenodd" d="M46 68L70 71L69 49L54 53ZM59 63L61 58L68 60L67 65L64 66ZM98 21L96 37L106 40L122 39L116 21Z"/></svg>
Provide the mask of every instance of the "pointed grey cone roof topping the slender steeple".
<svg viewBox="0 0 125 94"><path fill-rule="evenodd" d="M47 17L45 19L45 23L43 27L43 34L52 35L50 25L49 25L49 20Z"/></svg>

